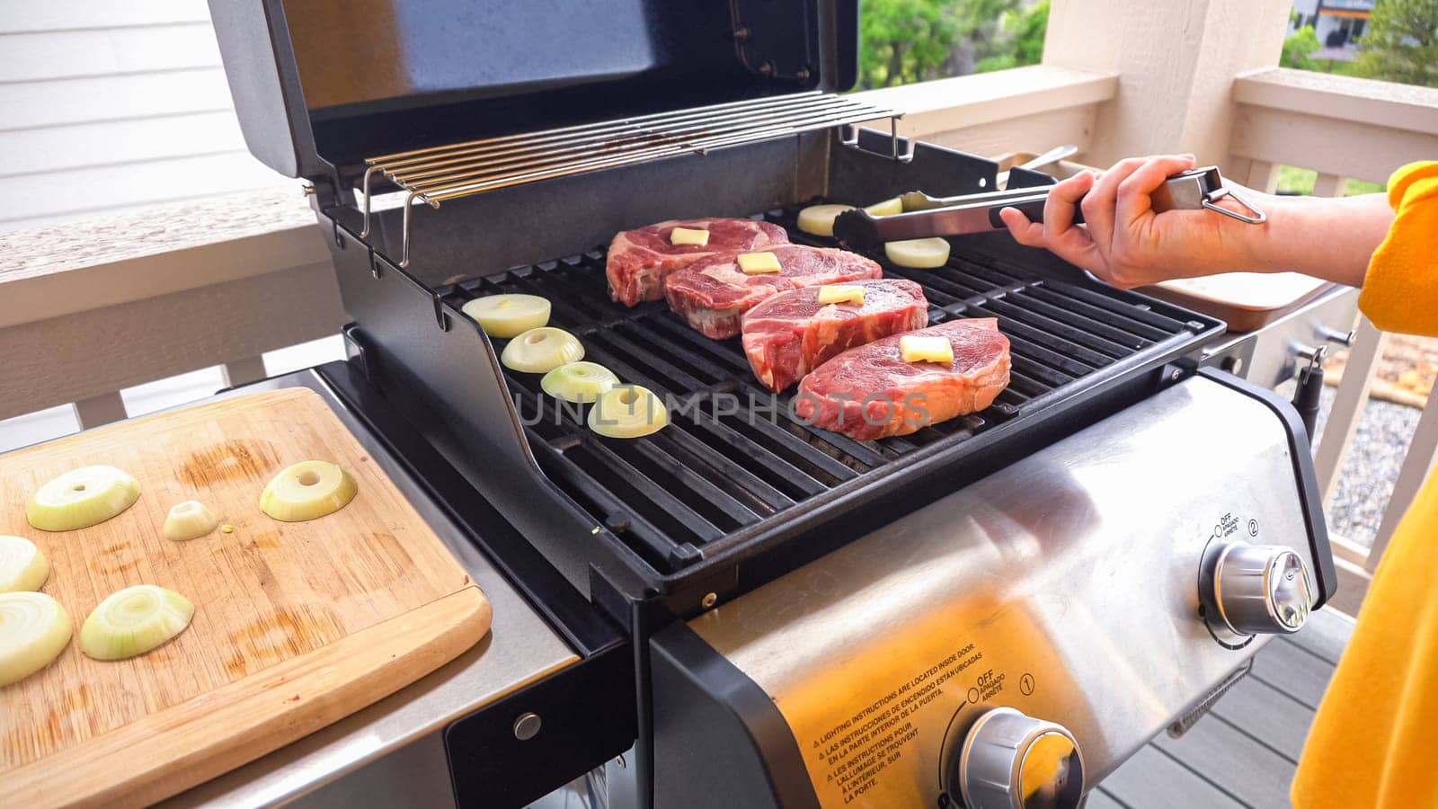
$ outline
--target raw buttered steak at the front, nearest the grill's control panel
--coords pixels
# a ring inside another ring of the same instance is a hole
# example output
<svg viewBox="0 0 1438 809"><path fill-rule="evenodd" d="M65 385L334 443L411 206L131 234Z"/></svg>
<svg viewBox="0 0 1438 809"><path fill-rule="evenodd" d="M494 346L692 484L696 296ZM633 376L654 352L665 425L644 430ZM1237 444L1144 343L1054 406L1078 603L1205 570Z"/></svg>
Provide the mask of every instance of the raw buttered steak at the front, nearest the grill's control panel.
<svg viewBox="0 0 1438 809"><path fill-rule="evenodd" d="M909 334L946 337L953 363L906 363L899 356L902 335L884 337L804 377L794 396L795 415L869 440L975 413L1008 387L1008 338L997 320L956 320Z"/></svg>

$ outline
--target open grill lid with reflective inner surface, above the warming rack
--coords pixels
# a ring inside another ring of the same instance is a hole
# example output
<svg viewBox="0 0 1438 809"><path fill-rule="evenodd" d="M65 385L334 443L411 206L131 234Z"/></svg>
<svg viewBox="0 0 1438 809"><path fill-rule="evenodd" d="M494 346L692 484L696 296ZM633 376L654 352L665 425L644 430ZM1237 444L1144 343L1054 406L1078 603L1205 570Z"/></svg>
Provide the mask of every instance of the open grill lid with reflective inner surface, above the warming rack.
<svg viewBox="0 0 1438 809"><path fill-rule="evenodd" d="M858 65L857 0L210 0L210 14L244 141L290 177L457 141L841 91Z"/></svg>

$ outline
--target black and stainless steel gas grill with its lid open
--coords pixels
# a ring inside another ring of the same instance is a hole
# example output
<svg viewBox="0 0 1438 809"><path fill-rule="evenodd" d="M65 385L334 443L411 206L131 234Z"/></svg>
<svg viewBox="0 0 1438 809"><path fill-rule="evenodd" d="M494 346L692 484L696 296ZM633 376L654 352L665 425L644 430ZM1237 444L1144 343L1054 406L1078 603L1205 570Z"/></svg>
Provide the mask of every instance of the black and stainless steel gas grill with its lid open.
<svg viewBox="0 0 1438 809"><path fill-rule="evenodd" d="M679 6L211 3L246 141L309 180L354 318L347 361L265 384L331 396L575 656L347 759L361 713L280 793L378 800L427 750L460 806L572 779L594 806L1074 806L1327 599L1303 425L1202 367L1221 321L1004 233L873 256L930 322L1012 344L991 407L899 438L810 426L738 340L613 302L623 229L762 216L833 246L800 207L998 180L833 95L857 3ZM673 423L591 433L462 312L495 292L548 298Z"/></svg>

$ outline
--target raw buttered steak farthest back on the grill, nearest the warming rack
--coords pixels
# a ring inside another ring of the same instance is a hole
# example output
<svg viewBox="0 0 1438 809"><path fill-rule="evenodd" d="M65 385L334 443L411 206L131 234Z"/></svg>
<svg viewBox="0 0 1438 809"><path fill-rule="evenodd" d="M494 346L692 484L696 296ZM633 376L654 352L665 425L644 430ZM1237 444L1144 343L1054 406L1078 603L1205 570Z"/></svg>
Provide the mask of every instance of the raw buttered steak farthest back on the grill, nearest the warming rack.
<svg viewBox="0 0 1438 809"><path fill-rule="evenodd" d="M703 245L674 245L674 227L706 230ZM664 276L713 255L748 253L769 245L787 245L789 235L778 225L755 219L682 219L624 230L610 242L604 274L610 298L626 307L664 297Z"/></svg>

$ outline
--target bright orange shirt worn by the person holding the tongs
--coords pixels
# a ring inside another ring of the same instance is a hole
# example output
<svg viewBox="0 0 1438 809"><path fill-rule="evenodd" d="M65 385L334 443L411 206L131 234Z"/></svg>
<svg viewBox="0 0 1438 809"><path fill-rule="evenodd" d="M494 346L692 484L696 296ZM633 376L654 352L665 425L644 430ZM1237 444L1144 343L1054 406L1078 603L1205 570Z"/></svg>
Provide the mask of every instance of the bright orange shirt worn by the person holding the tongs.
<svg viewBox="0 0 1438 809"><path fill-rule="evenodd" d="M1385 331L1438 334L1438 163L1389 180L1393 227L1359 307ZM1438 809L1438 487L1373 574L1293 780L1297 809Z"/></svg>

